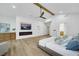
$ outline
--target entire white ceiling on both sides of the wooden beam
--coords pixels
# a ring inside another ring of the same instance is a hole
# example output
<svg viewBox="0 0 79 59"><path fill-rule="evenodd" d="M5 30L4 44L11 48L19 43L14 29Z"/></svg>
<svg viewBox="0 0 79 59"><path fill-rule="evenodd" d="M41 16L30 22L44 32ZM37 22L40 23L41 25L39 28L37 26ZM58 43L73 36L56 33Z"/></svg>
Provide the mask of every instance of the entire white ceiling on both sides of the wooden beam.
<svg viewBox="0 0 79 59"><path fill-rule="evenodd" d="M15 5L16 8L13 9L12 5ZM61 11L64 14L78 14L79 15L79 4L73 3L43 3L43 6L48 8L55 14L59 14ZM0 16L2 17L39 17L40 8L35 6L32 3L0 3ZM46 18L50 18L52 15L45 12L44 15Z"/></svg>

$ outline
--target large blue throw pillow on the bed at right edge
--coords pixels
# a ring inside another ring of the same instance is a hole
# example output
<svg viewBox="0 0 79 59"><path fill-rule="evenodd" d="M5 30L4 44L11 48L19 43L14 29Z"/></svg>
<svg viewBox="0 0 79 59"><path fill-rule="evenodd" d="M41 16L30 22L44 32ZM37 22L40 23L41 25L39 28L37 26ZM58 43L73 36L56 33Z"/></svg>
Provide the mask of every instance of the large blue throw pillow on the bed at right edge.
<svg viewBox="0 0 79 59"><path fill-rule="evenodd" d="M79 41L75 39L70 40L70 42L66 45L66 49L74 51L79 50Z"/></svg>

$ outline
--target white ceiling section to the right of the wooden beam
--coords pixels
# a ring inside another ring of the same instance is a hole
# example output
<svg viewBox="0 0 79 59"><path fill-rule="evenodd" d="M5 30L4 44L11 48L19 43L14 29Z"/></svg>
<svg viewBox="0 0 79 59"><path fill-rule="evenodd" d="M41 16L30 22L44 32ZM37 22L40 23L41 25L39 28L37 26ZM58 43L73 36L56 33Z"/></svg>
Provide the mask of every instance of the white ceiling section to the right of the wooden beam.
<svg viewBox="0 0 79 59"><path fill-rule="evenodd" d="M42 5L55 14L79 15L79 3L44 3Z"/></svg>

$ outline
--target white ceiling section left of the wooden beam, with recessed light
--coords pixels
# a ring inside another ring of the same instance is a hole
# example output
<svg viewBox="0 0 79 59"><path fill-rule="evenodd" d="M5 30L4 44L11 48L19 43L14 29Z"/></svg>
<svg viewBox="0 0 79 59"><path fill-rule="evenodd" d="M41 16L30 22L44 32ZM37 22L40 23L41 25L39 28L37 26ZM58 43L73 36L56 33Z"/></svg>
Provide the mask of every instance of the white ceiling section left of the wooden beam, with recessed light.
<svg viewBox="0 0 79 59"><path fill-rule="evenodd" d="M12 8L15 5L16 8ZM39 15L39 8L33 4L0 4L0 16L15 17L15 16L34 16Z"/></svg>

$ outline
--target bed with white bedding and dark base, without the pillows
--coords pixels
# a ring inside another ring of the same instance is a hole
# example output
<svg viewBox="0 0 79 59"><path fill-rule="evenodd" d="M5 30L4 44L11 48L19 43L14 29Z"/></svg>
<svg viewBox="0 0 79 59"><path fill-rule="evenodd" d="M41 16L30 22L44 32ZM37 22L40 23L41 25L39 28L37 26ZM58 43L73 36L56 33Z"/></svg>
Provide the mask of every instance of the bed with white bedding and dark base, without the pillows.
<svg viewBox="0 0 79 59"><path fill-rule="evenodd" d="M79 56L79 51L67 50L65 44L59 45L55 42L56 37L50 37L39 41L39 48L53 56ZM71 37L68 37L69 39Z"/></svg>

